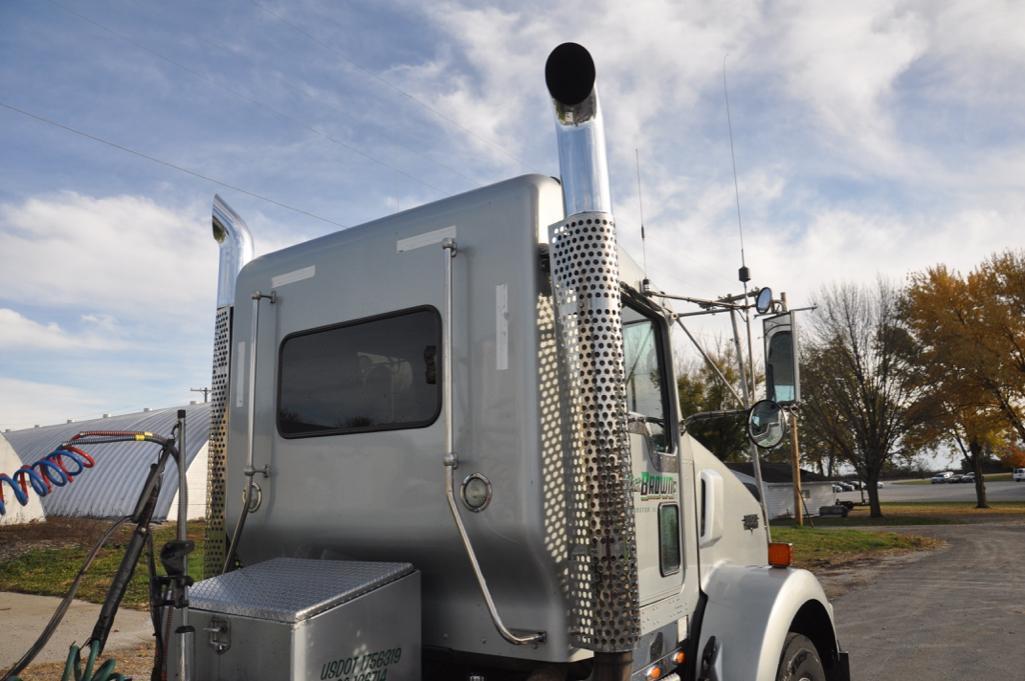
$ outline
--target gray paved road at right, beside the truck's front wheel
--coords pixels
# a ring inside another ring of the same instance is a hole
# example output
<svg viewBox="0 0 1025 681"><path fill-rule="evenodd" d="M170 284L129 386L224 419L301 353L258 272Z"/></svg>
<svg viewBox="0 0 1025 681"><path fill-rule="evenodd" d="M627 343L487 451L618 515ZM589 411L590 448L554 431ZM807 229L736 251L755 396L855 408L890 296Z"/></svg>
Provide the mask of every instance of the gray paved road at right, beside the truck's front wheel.
<svg viewBox="0 0 1025 681"><path fill-rule="evenodd" d="M1025 522L909 531L949 547L885 567L833 601L852 677L1025 679Z"/></svg>

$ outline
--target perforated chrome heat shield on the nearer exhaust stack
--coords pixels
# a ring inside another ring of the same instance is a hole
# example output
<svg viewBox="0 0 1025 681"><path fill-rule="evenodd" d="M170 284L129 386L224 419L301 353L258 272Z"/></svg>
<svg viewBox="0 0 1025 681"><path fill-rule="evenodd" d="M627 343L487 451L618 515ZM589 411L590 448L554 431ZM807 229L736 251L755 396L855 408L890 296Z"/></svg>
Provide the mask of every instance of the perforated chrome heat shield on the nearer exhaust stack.
<svg viewBox="0 0 1025 681"><path fill-rule="evenodd" d="M608 213L581 212L548 236L571 429L571 640L596 652L628 651L640 636L640 605L616 228Z"/></svg>

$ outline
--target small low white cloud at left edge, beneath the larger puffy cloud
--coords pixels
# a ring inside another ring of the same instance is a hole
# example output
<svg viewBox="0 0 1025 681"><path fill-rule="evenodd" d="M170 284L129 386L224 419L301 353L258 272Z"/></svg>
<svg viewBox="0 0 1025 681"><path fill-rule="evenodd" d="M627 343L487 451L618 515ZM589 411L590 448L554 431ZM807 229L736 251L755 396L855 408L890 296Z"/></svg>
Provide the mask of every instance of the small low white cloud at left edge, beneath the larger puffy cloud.
<svg viewBox="0 0 1025 681"><path fill-rule="evenodd" d="M69 332L56 322L39 323L9 308L0 308L0 349L122 350L117 322L109 315L83 315L87 328Z"/></svg>

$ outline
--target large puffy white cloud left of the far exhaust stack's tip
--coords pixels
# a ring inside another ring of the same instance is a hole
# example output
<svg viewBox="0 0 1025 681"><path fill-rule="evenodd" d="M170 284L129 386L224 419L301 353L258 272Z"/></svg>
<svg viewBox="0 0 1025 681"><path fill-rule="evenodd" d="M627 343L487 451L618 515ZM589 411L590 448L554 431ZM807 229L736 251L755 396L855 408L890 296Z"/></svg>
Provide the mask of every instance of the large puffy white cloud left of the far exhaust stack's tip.
<svg viewBox="0 0 1025 681"><path fill-rule="evenodd" d="M0 297L119 318L212 314L209 218L137 196L74 192L0 205Z"/></svg>

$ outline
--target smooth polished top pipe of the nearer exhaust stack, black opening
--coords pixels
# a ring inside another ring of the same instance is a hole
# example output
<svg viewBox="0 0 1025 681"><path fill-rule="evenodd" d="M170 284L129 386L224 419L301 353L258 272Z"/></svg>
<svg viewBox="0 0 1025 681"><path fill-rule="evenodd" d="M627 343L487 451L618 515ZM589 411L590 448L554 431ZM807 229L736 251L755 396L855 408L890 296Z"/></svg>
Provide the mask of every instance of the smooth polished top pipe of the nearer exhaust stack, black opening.
<svg viewBox="0 0 1025 681"><path fill-rule="evenodd" d="M576 43L563 43L551 50L544 65L544 82L556 109L567 217L580 212L612 212L605 125L594 76L594 61Z"/></svg>

